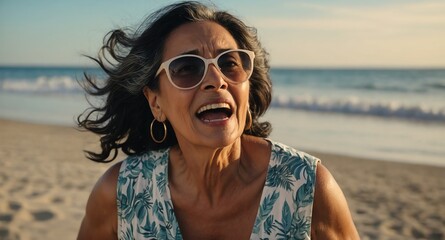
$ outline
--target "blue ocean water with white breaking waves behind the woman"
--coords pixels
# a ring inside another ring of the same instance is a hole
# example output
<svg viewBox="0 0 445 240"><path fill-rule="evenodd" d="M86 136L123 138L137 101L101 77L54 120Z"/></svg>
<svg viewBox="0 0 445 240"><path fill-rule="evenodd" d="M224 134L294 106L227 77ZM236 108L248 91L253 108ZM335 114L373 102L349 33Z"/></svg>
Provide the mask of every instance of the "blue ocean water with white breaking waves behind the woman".
<svg viewBox="0 0 445 240"><path fill-rule="evenodd" d="M94 68L0 67L0 118L74 126ZM271 138L302 150L445 166L445 69L272 69ZM94 101L94 99L93 99Z"/></svg>

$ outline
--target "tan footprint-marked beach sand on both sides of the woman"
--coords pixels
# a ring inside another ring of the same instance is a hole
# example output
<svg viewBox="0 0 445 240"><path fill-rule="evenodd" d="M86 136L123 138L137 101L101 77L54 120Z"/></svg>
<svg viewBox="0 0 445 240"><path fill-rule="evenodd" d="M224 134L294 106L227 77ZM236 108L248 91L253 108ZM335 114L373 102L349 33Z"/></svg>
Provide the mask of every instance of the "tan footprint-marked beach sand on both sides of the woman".
<svg viewBox="0 0 445 240"><path fill-rule="evenodd" d="M97 137L0 120L0 239L75 239L110 164L87 160ZM362 239L444 239L445 168L308 151L336 178Z"/></svg>

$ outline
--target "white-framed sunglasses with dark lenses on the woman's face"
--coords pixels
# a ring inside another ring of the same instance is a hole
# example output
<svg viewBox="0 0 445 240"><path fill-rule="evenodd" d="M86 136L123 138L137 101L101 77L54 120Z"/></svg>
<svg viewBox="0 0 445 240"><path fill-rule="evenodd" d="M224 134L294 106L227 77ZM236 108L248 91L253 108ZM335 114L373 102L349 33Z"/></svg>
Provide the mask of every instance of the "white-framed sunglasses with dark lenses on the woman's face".
<svg viewBox="0 0 445 240"><path fill-rule="evenodd" d="M244 49L224 51L210 59L194 54L184 54L163 62L156 72L156 77L162 70L165 70L167 78L173 86L188 90L201 84L212 63L226 80L232 83L242 83L252 75L254 58L253 51Z"/></svg>

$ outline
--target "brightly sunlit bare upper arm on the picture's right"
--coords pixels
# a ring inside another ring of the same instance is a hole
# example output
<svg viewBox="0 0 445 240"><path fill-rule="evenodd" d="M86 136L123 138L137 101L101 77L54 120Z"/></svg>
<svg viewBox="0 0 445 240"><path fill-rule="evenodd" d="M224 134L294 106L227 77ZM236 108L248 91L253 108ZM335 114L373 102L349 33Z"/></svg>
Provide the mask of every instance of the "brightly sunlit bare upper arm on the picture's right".
<svg viewBox="0 0 445 240"><path fill-rule="evenodd" d="M311 235L313 239L359 239L346 199L331 173L317 167Z"/></svg>

